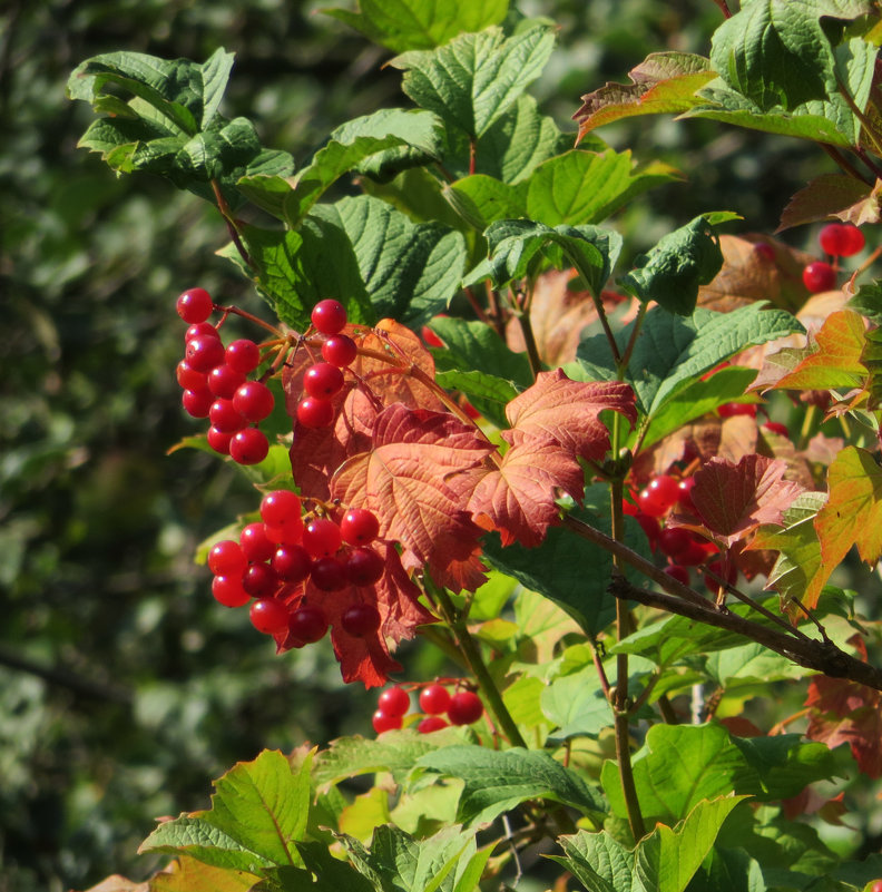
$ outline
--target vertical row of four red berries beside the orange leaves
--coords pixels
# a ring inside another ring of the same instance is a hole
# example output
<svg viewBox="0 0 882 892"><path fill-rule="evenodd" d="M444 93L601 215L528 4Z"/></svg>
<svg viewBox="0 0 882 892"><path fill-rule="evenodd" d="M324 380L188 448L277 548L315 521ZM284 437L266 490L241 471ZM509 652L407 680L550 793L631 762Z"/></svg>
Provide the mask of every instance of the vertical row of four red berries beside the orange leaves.
<svg viewBox="0 0 882 892"><path fill-rule="evenodd" d="M343 369L355 359L355 342L343 329L346 308L336 301L320 301L312 311L313 327L327 335L322 343L322 359L303 376L304 398L297 403L297 421L304 428L327 428L334 421L333 398L343 390Z"/></svg>

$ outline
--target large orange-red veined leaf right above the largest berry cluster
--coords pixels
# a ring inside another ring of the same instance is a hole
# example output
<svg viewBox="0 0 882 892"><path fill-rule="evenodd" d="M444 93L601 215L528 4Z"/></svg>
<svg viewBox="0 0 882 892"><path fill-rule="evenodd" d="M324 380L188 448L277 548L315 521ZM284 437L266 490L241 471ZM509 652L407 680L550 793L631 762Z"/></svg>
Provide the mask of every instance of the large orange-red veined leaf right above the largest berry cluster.
<svg viewBox="0 0 882 892"><path fill-rule="evenodd" d="M467 559L482 533L465 507L493 451L448 413L394 403L378 415L370 450L334 473L331 494L373 511L380 537L421 563L445 567Z"/></svg>

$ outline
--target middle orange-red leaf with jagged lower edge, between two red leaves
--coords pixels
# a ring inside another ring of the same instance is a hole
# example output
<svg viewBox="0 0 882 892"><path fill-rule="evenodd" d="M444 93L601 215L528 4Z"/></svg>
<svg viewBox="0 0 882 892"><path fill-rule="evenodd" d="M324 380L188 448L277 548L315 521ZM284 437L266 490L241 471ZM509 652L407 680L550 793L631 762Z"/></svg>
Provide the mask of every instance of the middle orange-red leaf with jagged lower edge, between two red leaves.
<svg viewBox="0 0 882 892"><path fill-rule="evenodd" d="M532 548L559 522L559 489L581 502L585 474L557 440L525 437L517 429L502 437L512 445L499 468L481 478L469 508L477 523L499 530L503 546L518 541Z"/></svg>

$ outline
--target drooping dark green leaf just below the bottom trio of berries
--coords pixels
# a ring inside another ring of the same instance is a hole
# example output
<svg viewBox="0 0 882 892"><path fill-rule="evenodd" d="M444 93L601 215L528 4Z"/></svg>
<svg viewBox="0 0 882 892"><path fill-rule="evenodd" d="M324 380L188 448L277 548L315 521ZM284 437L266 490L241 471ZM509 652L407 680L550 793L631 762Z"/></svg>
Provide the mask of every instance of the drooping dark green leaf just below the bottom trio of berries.
<svg viewBox="0 0 882 892"><path fill-rule="evenodd" d="M584 814L606 811L580 775L536 749L448 746L419 758L416 767L464 782L458 820L467 824L492 821L531 798L562 802Z"/></svg>

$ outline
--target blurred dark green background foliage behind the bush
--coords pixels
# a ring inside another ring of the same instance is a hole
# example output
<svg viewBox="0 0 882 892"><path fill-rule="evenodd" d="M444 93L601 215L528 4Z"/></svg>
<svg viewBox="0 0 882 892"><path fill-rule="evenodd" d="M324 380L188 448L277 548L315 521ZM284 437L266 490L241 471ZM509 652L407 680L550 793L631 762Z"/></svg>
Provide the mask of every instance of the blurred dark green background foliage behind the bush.
<svg viewBox="0 0 882 892"><path fill-rule="evenodd" d="M329 0L330 2L330 0ZM318 13L327 2L7 0L0 12L0 892L85 889L137 859L153 819L207 805L209 780L264 746L370 732L375 695L345 689L330 646L276 658L219 608L197 542L255 507L203 453L174 369L174 300L199 284L259 310L214 252L216 212L76 148L65 98L84 59L119 49L236 52L225 114L300 163L342 121L406 102L388 53ZM647 52L707 51L712 0L523 0L561 26L533 92L558 124ZM827 169L812 146L708 121L638 118L601 133L690 174L618 222L637 253L699 212L772 232ZM785 161L786 159L786 161ZM797 238L800 236L797 235ZM405 654L433 674L425 650Z"/></svg>

